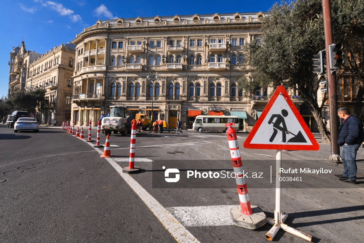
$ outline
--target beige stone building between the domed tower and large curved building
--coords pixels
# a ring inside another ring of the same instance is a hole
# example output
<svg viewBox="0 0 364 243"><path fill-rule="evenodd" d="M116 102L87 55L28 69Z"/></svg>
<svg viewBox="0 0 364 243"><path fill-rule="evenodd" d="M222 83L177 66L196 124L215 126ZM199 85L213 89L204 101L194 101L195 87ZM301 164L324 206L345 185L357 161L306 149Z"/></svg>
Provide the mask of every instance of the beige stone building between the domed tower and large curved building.
<svg viewBox="0 0 364 243"><path fill-rule="evenodd" d="M55 46L29 65L25 90L45 89L50 102L48 111L41 114L41 124L71 120L75 47L70 42Z"/></svg>

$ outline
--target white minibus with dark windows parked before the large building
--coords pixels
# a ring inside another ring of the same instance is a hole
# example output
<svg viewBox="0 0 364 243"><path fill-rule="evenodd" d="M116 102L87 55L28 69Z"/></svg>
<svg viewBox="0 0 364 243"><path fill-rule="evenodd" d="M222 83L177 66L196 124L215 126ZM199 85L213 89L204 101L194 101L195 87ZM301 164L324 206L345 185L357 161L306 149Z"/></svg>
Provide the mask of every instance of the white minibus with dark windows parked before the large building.
<svg viewBox="0 0 364 243"><path fill-rule="evenodd" d="M225 124L235 123L233 128L239 131L239 117L236 115L198 115L193 122L192 129L203 131L226 131Z"/></svg>

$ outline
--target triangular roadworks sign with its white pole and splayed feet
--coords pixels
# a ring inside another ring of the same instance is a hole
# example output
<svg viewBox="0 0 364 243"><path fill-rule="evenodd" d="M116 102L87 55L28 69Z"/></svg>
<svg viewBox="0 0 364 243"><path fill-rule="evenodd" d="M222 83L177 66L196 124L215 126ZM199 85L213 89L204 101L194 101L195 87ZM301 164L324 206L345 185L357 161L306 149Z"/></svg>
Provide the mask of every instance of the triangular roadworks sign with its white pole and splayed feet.
<svg viewBox="0 0 364 243"><path fill-rule="evenodd" d="M281 212L281 173L282 149L319 150L320 146L307 127L302 116L293 104L283 86L278 86L260 115L252 132L244 142L247 149L276 149L276 210L274 219L267 222L273 227L266 233L268 240L273 240L281 228L308 241L312 236L284 224L288 214Z"/></svg>

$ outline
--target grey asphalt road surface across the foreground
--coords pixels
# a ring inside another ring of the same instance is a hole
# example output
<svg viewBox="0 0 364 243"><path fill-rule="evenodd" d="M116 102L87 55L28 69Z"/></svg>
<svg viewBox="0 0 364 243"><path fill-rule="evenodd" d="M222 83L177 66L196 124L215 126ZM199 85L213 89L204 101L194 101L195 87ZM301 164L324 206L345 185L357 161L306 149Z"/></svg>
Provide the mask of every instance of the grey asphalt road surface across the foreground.
<svg viewBox="0 0 364 243"><path fill-rule="evenodd" d="M250 202L273 217L276 152L244 149L247 135L238 133L244 169L264 177L246 179ZM105 139L102 134L101 144ZM0 242L267 241L269 224L257 230L232 224L229 210L239 202L234 179L182 178L187 169L232 170L225 134L142 132L136 141L135 157L141 161L135 165L141 173L130 176L119 173L128 165L130 136L112 134L114 157L105 159L99 157L102 148L90 146L95 142L87 143L60 128L13 133L0 126ZM361 242L364 156L357 156L361 183L347 185L333 176L343 166L324 160L330 146L320 145L316 152L283 152L285 168L332 170L300 175L302 182L284 184L282 211L289 215L285 223L313 235L313 242ZM162 184L162 166L180 169L180 183ZM282 230L274 241L306 242Z"/></svg>

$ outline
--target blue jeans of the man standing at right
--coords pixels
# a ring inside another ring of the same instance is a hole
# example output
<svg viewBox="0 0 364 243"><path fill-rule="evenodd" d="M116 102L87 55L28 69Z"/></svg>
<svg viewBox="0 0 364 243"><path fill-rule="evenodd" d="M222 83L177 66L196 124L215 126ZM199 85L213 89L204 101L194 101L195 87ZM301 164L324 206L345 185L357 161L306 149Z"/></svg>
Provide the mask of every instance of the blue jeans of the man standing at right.
<svg viewBox="0 0 364 243"><path fill-rule="evenodd" d="M344 163L343 175L349 177L352 180L356 179L356 152L361 144L343 145L343 154L341 158Z"/></svg>

